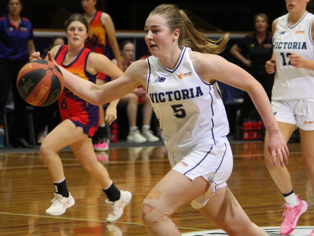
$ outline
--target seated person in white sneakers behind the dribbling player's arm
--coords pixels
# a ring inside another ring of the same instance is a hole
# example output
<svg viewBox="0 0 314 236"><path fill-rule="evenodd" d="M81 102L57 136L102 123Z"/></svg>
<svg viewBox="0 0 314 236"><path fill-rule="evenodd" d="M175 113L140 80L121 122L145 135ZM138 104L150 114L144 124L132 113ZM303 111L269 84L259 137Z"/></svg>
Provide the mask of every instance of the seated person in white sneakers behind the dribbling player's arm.
<svg viewBox="0 0 314 236"><path fill-rule="evenodd" d="M131 41L124 41L120 44L121 61L124 70L133 63L134 45ZM112 62L117 65L116 59L112 59ZM143 104L142 116L143 126L142 132L136 126L136 115L138 104ZM150 130L150 121L152 119L153 108L150 104L149 95L144 87L138 87L133 90L132 93L120 98L118 106L127 107L127 118L129 122L129 134L127 135L127 141L131 143L145 143L145 142L157 142L159 138L154 136L153 131Z"/></svg>

